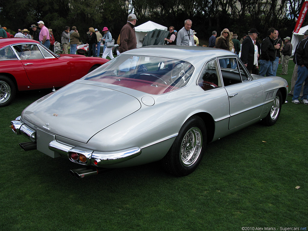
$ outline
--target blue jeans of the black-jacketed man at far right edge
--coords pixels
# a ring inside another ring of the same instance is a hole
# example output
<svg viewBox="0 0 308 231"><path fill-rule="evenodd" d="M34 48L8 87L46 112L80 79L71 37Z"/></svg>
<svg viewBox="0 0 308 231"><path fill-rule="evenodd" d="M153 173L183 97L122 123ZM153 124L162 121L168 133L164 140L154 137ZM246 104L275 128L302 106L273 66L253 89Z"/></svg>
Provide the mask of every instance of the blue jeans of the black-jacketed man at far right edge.
<svg viewBox="0 0 308 231"><path fill-rule="evenodd" d="M301 90L302 90L302 84L304 82L305 82L304 91L303 91L303 96L301 99L307 99L307 96L308 96L308 68L298 66L297 74L298 74L297 81L294 85L294 93L293 93L292 100L298 99L301 93Z"/></svg>

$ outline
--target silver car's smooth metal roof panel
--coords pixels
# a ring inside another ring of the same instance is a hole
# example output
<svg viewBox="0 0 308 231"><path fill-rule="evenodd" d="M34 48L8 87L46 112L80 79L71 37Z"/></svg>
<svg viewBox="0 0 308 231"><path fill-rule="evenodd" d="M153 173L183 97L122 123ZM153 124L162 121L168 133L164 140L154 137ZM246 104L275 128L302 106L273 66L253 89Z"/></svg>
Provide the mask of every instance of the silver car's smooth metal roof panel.
<svg viewBox="0 0 308 231"><path fill-rule="evenodd" d="M123 54L162 56L173 59L184 59L189 62L196 62L201 59L209 60L219 56L235 55L233 52L217 48L175 45L140 47L126 51Z"/></svg>

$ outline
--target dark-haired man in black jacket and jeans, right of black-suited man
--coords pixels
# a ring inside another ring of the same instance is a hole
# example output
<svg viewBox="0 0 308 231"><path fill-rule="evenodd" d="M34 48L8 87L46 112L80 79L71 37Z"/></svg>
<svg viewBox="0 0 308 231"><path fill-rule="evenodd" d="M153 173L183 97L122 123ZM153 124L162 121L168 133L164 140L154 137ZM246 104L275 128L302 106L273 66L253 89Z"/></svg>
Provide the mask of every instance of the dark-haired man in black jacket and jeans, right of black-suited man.
<svg viewBox="0 0 308 231"><path fill-rule="evenodd" d="M260 75L273 76L272 61L275 60L275 47L273 39L276 36L276 29L270 28L267 37L263 40L260 55Z"/></svg>

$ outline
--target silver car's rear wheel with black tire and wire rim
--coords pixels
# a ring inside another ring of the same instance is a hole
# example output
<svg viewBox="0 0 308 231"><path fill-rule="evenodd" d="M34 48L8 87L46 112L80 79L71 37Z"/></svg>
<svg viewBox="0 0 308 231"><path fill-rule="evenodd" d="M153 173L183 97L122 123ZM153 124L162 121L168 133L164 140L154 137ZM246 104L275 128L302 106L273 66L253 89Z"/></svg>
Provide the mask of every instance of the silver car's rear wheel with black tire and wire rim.
<svg viewBox="0 0 308 231"><path fill-rule="evenodd" d="M180 129L167 155L164 169L175 176L186 176L200 164L206 146L206 128L199 116L190 117Z"/></svg>

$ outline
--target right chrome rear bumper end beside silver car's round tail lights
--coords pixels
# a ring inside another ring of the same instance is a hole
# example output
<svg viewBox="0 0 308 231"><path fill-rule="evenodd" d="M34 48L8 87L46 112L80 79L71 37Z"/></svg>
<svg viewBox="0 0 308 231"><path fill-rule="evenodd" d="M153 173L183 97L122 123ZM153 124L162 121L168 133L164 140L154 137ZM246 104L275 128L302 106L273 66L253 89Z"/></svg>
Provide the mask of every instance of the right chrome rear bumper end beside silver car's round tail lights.
<svg viewBox="0 0 308 231"><path fill-rule="evenodd" d="M141 148L134 147L116 152L93 152L92 162L97 161L97 166L117 164L132 159L141 154Z"/></svg>

